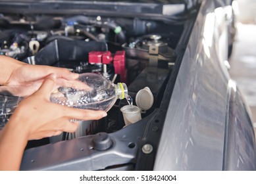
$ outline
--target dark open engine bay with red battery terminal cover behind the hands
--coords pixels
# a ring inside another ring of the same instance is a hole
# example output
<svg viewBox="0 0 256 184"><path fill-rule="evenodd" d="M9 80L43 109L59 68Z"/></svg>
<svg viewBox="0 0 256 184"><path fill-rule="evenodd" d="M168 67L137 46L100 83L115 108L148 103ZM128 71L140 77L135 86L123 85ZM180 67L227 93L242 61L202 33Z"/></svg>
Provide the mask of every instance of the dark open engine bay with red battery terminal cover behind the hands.
<svg viewBox="0 0 256 184"><path fill-rule="evenodd" d="M180 12L181 17L185 12ZM134 105L138 91L149 87L153 105L141 113L145 118L163 101L185 25L182 18L5 12L0 14L0 55L28 64L68 68L78 74L92 72L113 83L126 83ZM9 111L15 101L10 98L12 103L3 105ZM114 133L125 126L120 108L126 104L126 99L117 100L106 118L81 122L72 135L31 141L27 148L98 132ZM11 113L1 113L5 114L1 118L3 127Z"/></svg>

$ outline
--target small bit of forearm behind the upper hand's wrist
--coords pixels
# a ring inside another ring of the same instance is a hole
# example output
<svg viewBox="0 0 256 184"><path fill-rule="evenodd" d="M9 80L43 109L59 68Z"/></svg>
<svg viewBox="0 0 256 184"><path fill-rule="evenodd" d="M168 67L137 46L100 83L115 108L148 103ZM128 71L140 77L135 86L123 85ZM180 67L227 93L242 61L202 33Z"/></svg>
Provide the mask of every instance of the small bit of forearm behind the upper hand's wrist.
<svg viewBox="0 0 256 184"><path fill-rule="evenodd" d="M5 57L3 55L0 55L0 85L4 85L9 80L12 72L16 68L22 66L22 64L25 63L15 60L11 57Z"/></svg>

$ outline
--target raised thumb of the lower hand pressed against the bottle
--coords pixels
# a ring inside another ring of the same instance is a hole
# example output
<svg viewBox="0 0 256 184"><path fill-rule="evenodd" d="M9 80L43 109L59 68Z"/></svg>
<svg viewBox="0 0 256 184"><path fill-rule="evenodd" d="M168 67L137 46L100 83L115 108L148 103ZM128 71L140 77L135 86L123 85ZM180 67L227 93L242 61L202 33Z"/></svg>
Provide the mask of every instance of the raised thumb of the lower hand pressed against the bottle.
<svg viewBox="0 0 256 184"><path fill-rule="evenodd" d="M50 74L49 76L47 76L41 84L41 87L39 87L37 93L39 93L39 95L42 95L43 97L46 97L46 99L49 99L51 93L53 92L56 77L56 74Z"/></svg>

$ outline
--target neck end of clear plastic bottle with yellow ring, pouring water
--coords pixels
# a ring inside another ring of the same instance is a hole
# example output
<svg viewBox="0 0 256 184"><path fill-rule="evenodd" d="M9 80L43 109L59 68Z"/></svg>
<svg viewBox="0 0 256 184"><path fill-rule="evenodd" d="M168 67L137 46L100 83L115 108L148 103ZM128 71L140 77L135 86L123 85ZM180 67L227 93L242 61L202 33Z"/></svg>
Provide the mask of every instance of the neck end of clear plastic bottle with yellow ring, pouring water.
<svg viewBox="0 0 256 184"><path fill-rule="evenodd" d="M61 86L53 91L51 102L107 112L115 104L116 99L128 96L125 83L115 84L99 74L80 74L77 82L73 83L73 86Z"/></svg>

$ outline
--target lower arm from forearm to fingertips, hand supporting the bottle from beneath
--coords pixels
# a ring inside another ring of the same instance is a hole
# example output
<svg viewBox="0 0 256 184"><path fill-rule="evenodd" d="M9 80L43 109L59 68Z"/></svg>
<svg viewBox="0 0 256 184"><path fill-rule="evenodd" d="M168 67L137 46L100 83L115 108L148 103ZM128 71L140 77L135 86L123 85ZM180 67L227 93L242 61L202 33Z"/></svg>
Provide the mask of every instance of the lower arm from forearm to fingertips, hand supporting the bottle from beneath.
<svg viewBox="0 0 256 184"><path fill-rule="evenodd" d="M55 75L48 76L36 93L24 99L14 110L0 135L0 170L18 170L28 140L74 132L78 123L70 119L98 120L104 111L82 110L51 103L49 97Z"/></svg>

